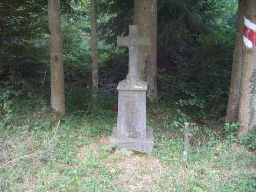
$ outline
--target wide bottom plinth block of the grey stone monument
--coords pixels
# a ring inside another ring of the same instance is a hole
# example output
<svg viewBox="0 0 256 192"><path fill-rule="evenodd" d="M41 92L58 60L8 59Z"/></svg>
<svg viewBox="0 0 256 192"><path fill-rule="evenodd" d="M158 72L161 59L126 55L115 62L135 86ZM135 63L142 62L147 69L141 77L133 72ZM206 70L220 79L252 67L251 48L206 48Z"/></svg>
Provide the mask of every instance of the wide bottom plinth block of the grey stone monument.
<svg viewBox="0 0 256 192"><path fill-rule="evenodd" d="M117 136L117 127L114 127L109 148L116 148L116 152L124 152L127 155L132 154L132 151L150 153L153 150L152 132L151 128L147 129L146 139L120 138Z"/></svg>

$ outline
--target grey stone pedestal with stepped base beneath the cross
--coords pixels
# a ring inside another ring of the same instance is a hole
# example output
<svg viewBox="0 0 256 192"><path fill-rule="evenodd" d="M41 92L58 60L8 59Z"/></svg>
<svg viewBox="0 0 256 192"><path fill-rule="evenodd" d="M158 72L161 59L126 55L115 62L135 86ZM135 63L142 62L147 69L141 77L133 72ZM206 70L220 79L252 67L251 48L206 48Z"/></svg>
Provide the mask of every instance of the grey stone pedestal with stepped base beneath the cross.
<svg viewBox="0 0 256 192"><path fill-rule="evenodd" d="M146 129L147 82L125 79L119 82L117 90L117 127L110 138L110 150L116 148L117 152L126 154L131 151L152 152L152 129Z"/></svg>

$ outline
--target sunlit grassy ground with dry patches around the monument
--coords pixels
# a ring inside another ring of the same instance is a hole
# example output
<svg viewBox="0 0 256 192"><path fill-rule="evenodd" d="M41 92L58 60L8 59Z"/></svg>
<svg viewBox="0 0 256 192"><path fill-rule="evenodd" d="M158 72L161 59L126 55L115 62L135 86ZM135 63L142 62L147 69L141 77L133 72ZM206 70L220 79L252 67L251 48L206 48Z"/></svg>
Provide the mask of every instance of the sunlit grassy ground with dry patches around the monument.
<svg viewBox="0 0 256 192"><path fill-rule="evenodd" d="M148 115L154 151L132 156L108 149L113 112L60 118L55 137L58 118L48 108L2 117L0 191L256 191L255 152L195 134L186 161L165 113Z"/></svg>

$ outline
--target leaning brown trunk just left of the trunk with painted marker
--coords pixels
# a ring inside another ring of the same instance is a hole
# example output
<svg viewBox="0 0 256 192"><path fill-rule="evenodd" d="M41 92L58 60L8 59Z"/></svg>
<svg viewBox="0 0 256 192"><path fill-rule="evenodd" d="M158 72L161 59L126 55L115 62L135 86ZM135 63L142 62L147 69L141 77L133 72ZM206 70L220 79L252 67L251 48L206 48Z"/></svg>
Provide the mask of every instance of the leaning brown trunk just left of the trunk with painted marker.
<svg viewBox="0 0 256 192"><path fill-rule="evenodd" d="M244 0L238 3L238 20L236 44L234 46L232 74L230 81L229 98L226 113L226 122L233 123L237 121L238 103L241 85L241 73L243 62L243 34L244 34Z"/></svg>

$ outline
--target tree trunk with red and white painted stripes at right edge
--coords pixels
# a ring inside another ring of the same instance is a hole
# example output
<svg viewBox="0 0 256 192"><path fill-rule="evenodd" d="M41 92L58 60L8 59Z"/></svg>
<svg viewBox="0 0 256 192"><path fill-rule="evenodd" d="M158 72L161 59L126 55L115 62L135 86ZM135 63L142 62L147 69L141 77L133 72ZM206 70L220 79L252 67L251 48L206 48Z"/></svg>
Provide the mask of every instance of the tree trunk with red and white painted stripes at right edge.
<svg viewBox="0 0 256 192"><path fill-rule="evenodd" d="M256 126L256 1L246 0L244 10L244 47L238 121L239 137Z"/></svg>

